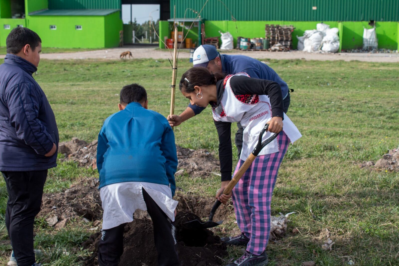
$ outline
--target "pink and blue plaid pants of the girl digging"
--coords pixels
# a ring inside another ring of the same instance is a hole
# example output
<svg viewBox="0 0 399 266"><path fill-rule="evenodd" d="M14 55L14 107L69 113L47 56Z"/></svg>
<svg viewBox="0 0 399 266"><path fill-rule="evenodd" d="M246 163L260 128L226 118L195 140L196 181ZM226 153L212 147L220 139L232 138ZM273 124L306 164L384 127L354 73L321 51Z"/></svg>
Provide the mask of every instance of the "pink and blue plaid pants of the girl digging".
<svg viewBox="0 0 399 266"><path fill-rule="evenodd" d="M290 139L281 131L277 136L280 151L260 155L233 189L233 204L237 224L249 238L247 251L260 255L266 249L270 234L270 203L282 158ZM238 171L244 163L240 160Z"/></svg>

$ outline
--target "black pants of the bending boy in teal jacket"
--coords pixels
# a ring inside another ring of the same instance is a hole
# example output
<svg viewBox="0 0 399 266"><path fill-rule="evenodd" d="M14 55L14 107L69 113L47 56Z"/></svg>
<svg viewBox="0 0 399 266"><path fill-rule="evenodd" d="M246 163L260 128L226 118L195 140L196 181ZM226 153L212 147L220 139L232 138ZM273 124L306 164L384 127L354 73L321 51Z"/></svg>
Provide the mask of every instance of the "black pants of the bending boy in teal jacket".
<svg viewBox="0 0 399 266"><path fill-rule="evenodd" d="M179 266L176 250L174 223L166 216L156 202L143 189L144 201L154 226L155 248L158 252L158 266ZM123 253L123 231L126 224L102 231L99 242L99 266L117 266Z"/></svg>

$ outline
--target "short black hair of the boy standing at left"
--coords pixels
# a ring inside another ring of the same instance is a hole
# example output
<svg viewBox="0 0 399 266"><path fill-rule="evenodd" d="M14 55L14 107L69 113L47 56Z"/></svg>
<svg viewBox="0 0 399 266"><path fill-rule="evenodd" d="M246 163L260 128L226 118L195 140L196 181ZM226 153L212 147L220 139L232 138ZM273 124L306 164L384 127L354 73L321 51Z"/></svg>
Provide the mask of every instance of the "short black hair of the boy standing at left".
<svg viewBox="0 0 399 266"><path fill-rule="evenodd" d="M17 27L12 29L10 34L7 36L7 53L18 54L24 46L30 45L32 51L39 46L41 39L39 35L28 28Z"/></svg>

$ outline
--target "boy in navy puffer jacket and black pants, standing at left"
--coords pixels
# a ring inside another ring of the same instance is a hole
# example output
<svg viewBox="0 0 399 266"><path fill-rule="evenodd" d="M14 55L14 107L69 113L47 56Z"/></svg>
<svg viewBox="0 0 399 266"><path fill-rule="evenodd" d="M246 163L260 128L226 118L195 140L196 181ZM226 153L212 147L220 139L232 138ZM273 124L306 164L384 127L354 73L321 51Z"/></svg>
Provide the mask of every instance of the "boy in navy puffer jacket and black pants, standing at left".
<svg viewBox="0 0 399 266"><path fill-rule="evenodd" d="M8 34L0 66L0 171L8 192L6 226L13 252L8 266L36 264L33 224L47 169L56 167L58 129L53 110L32 77L41 39L28 28Z"/></svg>

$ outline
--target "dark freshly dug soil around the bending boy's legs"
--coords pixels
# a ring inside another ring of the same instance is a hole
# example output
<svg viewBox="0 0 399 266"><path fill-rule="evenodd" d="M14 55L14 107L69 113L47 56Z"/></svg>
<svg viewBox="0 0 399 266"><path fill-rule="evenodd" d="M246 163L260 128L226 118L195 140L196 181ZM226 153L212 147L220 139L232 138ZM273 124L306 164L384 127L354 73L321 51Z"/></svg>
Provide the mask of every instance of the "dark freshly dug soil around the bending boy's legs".
<svg viewBox="0 0 399 266"><path fill-rule="evenodd" d="M219 266L221 258L227 255L226 244L222 244L219 236L210 230L189 230L184 228L184 222L198 218L195 214L179 212L176 216L177 250L182 266ZM91 248L94 254L85 261L86 265L97 266L98 242L101 234L94 234L83 243L83 248ZM154 244L152 222L148 219L136 219L125 227L124 252L119 266L155 266L157 252Z"/></svg>

